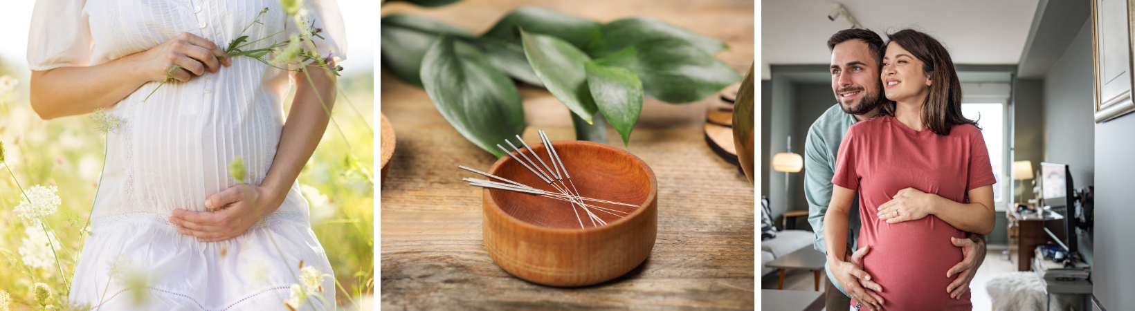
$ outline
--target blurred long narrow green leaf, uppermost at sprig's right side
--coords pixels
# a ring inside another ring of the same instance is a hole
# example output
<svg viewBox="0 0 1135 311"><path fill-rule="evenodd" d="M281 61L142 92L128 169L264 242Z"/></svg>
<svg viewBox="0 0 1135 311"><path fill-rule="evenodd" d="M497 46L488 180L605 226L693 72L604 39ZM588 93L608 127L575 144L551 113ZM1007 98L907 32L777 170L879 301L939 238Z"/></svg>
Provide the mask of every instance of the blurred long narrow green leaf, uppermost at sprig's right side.
<svg viewBox="0 0 1135 311"><path fill-rule="evenodd" d="M721 40L700 35L665 22L632 17L619 19L603 25L602 32L595 33L583 48L592 58L613 54L619 50L647 40L679 39L705 51L708 54L728 49Z"/></svg>

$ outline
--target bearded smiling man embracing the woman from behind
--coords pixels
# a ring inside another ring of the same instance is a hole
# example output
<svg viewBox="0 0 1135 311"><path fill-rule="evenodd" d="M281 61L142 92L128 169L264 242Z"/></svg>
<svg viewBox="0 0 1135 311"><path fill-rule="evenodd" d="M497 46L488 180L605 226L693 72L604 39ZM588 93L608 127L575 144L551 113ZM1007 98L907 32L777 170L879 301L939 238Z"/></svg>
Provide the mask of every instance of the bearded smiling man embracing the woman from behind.
<svg viewBox="0 0 1135 311"><path fill-rule="evenodd" d="M804 159L808 222L815 232L813 244L821 252L826 252L824 215L832 201L832 177L835 175L835 160L843 134L852 124L878 116L880 107L888 101L883 96L880 81L883 47L883 39L868 30L844 30L827 40L827 49L832 51L832 91L838 103L824 111L808 128ZM844 255L849 264L825 267L829 278L824 293L827 310L843 310L850 305L851 299L865 302L866 310L877 310L871 304L880 300L875 292L885 291L881 285L865 279L867 274L863 270L863 258L867 255L869 247L856 250L860 226L858 201L854 201L848 219L848 253ZM965 257L947 271L947 277L957 276L948 288L943 288L950 292L951 297L960 297L969 289L969 281L985 259L984 238L975 234L967 236L970 238L951 241L953 245L961 247ZM843 288L835 281L836 274L857 276L860 284L848 286L854 288Z"/></svg>

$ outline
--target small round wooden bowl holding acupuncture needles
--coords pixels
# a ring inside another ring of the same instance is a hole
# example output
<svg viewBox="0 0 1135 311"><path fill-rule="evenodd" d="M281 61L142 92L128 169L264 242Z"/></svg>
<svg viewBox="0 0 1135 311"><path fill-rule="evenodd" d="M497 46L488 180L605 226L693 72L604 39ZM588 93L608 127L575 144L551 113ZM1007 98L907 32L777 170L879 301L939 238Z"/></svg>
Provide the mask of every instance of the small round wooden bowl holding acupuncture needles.
<svg viewBox="0 0 1135 311"><path fill-rule="evenodd" d="M530 145L548 161L544 144ZM485 188L481 232L489 255L513 276L564 287L607 281L638 267L654 249L658 232L654 171L634 154L606 144L560 141L553 145L571 176L568 185L574 184L580 195L637 207L594 203L629 212L622 218L595 212L607 225L594 227L579 208L574 208L581 213L577 218L569 202ZM532 157L527 149L521 151ZM512 157L502 157L488 173L555 191Z"/></svg>

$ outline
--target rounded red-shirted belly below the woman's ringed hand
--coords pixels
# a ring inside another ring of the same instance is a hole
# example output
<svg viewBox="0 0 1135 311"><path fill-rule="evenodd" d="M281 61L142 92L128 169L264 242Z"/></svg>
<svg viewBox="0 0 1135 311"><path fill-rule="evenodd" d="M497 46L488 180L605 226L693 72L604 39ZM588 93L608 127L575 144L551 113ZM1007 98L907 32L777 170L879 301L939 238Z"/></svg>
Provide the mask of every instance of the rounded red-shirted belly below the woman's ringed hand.
<svg viewBox="0 0 1135 311"><path fill-rule="evenodd" d="M970 310L969 292L959 300L950 299L947 286L957 277L945 277L951 267L961 262L961 249L950 237L965 233L938 217L899 224L886 224L865 217L858 245L871 245L864 258L864 270L883 287L880 295L889 310Z"/></svg>

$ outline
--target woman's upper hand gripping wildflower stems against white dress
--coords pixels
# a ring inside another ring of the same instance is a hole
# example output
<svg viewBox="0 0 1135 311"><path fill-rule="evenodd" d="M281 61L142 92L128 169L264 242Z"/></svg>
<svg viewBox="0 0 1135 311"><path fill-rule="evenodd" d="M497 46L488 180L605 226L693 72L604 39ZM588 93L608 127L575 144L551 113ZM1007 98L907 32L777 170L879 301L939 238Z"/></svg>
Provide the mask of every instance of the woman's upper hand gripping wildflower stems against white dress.
<svg viewBox="0 0 1135 311"><path fill-rule="evenodd" d="M218 57L224 60L218 60ZM173 77L180 82L190 81L190 73L197 76L205 74L205 67L210 73L217 73L221 65L233 65L225 50L212 41L191 33L182 33L138 53L137 58L141 61L140 69L150 81L166 81L170 74L169 68L174 65L182 67L171 73Z"/></svg>

